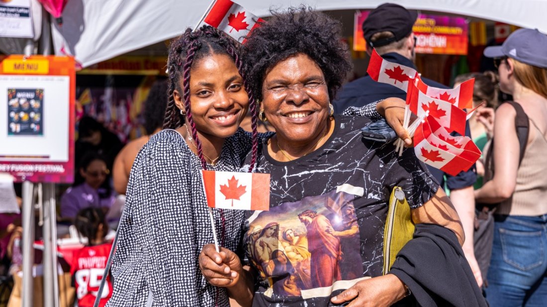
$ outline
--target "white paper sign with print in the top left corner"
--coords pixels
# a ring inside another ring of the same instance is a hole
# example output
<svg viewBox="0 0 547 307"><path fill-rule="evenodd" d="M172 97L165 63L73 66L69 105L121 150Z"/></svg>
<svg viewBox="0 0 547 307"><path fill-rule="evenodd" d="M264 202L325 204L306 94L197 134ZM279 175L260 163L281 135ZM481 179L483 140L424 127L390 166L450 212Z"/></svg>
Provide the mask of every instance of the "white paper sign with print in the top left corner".
<svg viewBox="0 0 547 307"><path fill-rule="evenodd" d="M34 37L30 0L0 0L0 37Z"/></svg>

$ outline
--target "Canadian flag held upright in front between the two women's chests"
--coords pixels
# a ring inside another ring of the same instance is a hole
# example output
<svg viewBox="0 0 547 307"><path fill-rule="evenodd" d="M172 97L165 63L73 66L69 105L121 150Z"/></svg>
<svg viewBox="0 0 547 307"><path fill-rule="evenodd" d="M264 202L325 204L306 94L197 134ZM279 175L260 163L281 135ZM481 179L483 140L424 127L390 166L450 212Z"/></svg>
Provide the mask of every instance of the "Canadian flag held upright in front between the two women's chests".
<svg viewBox="0 0 547 307"><path fill-rule="evenodd" d="M270 174L201 172L209 207L264 211L270 209Z"/></svg>

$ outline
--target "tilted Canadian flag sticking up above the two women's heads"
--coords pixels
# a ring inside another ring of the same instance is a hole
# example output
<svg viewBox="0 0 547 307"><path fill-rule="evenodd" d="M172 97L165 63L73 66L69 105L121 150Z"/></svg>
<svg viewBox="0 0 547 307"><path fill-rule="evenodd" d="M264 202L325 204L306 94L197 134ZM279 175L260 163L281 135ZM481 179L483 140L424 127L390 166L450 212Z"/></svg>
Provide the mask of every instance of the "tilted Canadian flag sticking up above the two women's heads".
<svg viewBox="0 0 547 307"><path fill-rule="evenodd" d="M244 43L247 34L259 27L261 22L264 20L249 13L239 4L230 0L217 0L197 28L210 25Z"/></svg>

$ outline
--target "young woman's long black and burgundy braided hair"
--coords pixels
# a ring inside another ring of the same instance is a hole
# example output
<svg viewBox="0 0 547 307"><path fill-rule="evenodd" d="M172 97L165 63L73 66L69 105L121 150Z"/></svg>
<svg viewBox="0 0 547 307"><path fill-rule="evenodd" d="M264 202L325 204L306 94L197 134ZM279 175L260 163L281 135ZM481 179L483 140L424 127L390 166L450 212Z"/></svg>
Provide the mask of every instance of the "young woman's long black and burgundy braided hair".
<svg viewBox="0 0 547 307"><path fill-rule="evenodd" d="M183 93L184 111L190 126L191 135L196 143L197 155L201 160L201 165L205 169L207 161L203 158L203 149L201 141L197 137L197 129L192 118L190 107L190 70L194 62L198 59L210 56L212 54L228 55L234 59L237 70L243 78L243 86L249 97L249 111L252 117L252 159L249 172L253 171L257 160L258 135L257 135L257 107L253 91L245 77L246 66L240 55L240 45L237 41L228 37L224 32L211 26L203 26L199 30L192 32L188 28L181 37L172 41L169 50L167 69L169 71L169 82L167 88L167 108L165 110L164 129L176 129L184 123L184 117L177 109L174 103L173 92L175 89ZM181 80L183 91L181 91Z"/></svg>

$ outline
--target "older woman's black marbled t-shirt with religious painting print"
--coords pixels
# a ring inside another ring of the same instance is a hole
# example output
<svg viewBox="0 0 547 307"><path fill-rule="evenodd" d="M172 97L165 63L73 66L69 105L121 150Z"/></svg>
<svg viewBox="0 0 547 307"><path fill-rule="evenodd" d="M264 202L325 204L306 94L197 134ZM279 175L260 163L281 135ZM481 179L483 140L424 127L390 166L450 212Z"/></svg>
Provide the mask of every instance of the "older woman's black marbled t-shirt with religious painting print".
<svg viewBox="0 0 547 307"><path fill-rule="evenodd" d="M382 275L383 230L393 186L411 208L439 184L412 149L362 139L365 117L335 116L316 151L280 162L260 144L256 172L270 173L270 210L248 213L244 248L257 271L254 306L329 306L356 282ZM248 161L246 161L248 164Z"/></svg>

